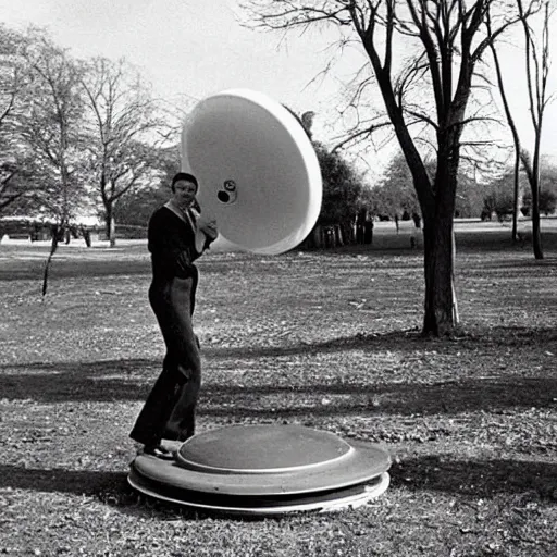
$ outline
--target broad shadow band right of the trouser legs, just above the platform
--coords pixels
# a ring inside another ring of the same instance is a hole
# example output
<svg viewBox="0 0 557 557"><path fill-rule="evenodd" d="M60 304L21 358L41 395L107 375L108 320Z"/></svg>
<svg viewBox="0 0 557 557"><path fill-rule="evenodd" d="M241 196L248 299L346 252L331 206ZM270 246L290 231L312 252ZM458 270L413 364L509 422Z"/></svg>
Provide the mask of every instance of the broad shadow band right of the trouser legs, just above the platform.
<svg viewBox="0 0 557 557"><path fill-rule="evenodd" d="M556 392L557 377L545 376L455 380L433 385L356 383L251 388L207 385L202 391L199 413L261 419L350 414L458 414L476 410L553 408L556 404ZM339 396L339 399L335 400L335 396ZM272 403L262 404L263 397L273 397ZM284 397L284 401L281 397ZM327 398L326 403L322 404L321 398ZM304 404L297 404L298 399Z"/></svg>

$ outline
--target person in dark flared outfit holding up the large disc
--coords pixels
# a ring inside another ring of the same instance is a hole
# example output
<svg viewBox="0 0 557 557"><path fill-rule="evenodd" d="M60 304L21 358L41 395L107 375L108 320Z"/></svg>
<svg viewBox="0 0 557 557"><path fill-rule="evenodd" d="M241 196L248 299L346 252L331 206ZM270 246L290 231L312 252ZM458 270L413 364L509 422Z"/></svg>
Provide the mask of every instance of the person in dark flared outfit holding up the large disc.
<svg viewBox="0 0 557 557"><path fill-rule="evenodd" d="M191 325L198 271L194 261L216 238L214 221L203 221L197 207L198 183L178 172L172 197L151 215L148 249L152 282L149 301L159 322L166 354L129 436L144 453L172 458L162 440L185 441L195 433L195 411L201 386L199 344ZM196 242L197 238L197 242ZM199 242L201 240L201 242Z"/></svg>

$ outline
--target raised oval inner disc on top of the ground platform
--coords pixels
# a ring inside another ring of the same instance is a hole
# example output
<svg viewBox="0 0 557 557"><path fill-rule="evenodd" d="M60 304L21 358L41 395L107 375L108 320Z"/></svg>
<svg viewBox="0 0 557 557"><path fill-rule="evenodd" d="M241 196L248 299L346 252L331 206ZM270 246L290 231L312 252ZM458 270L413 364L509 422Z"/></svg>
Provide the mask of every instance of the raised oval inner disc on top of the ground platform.
<svg viewBox="0 0 557 557"><path fill-rule="evenodd" d="M331 466L352 450L336 435L309 428L237 425L189 438L176 460L212 473L278 473Z"/></svg>

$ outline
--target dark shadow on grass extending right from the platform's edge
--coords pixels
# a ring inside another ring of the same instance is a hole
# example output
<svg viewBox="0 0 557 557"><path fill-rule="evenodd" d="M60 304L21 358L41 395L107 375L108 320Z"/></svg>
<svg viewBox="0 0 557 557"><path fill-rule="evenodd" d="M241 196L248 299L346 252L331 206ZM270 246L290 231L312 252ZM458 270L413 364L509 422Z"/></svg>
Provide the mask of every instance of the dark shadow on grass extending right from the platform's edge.
<svg viewBox="0 0 557 557"><path fill-rule="evenodd" d="M480 498L535 492L554 499L557 462L528 460L451 460L428 455L394 463L394 485Z"/></svg>

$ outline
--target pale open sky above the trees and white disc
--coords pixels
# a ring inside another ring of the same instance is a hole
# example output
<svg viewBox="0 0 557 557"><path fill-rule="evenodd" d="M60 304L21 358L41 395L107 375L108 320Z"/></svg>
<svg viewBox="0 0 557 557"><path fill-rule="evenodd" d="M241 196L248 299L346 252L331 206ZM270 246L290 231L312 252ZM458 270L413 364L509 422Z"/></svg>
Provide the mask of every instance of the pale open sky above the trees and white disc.
<svg viewBox="0 0 557 557"><path fill-rule="evenodd" d="M139 66L159 95L197 99L233 87L257 89L297 112L313 110L315 138L327 141L332 114L342 95L339 82L359 66L361 57L347 51L334 73L318 78L331 58L335 29L288 34L253 32L234 17L235 0L0 0L0 22L46 27L73 55L125 58ZM557 48L553 45L554 90ZM520 54L506 57L516 115L527 147L530 123L525 91L515 79ZM521 66L523 67L523 66ZM522 73L522 70L521 70ZM382 106L382 101L377 98ZM338 131L338 129L337 129ZM547 111L544 151L557 153L557 102ZM380 161L370 160L372 166ZM371 157L375 159L375 157Z"/></svg>

